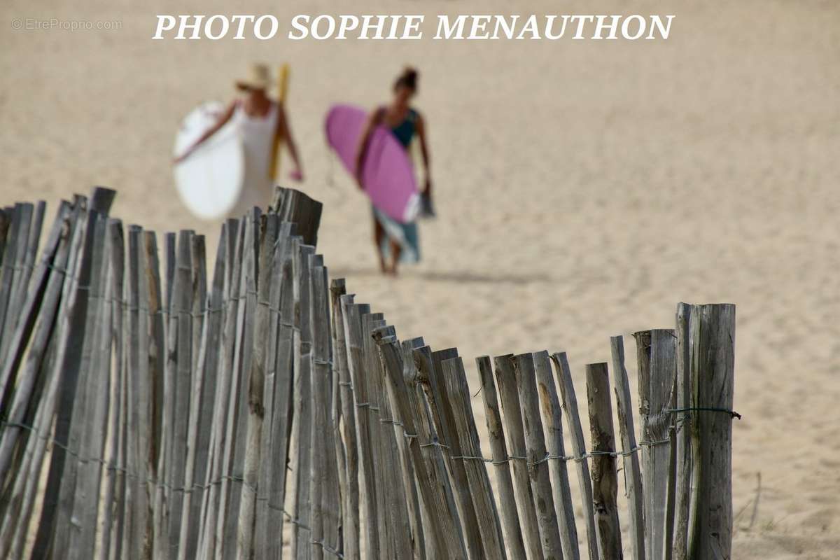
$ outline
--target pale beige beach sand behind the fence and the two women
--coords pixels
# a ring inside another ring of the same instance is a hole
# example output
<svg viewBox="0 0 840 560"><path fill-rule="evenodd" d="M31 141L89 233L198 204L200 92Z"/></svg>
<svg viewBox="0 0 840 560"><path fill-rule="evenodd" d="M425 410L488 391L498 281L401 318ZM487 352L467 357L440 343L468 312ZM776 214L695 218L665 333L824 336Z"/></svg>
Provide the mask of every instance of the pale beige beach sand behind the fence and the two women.
<svg viewBox="0 0 840 560"><path fill-rule="evenodd" d="M294 42L282 30L270 41L150 39L156 13L231 9L6 0L3 204L45 199L51 217L60 198L111 186L114 216L161 233L193 228L214 254L218 223L192 218L172 186L177 123L198 102L233 96L251 61L288 61L307 175L299 188L325 203L319 250L357 301L384 311L402 338L457 346L474 392L475 356L543 348L569 353L582 391L584 365L609 359L611 335L672 327L678 301L736 303L733 557L837 557L837 3L352 6L428 19L676 14L670 39L635 43ZM340 13L326 2L235 10L284 24L295 13ZM123 29L9 28L26 17ZM394 280L378 273L368 202L331 162L323 116L333 102L386 101L407 63L421 72L416 105L428 120L439 217L421 225L423 263ZM474 406L483 424L480 396Z"/></svg>

